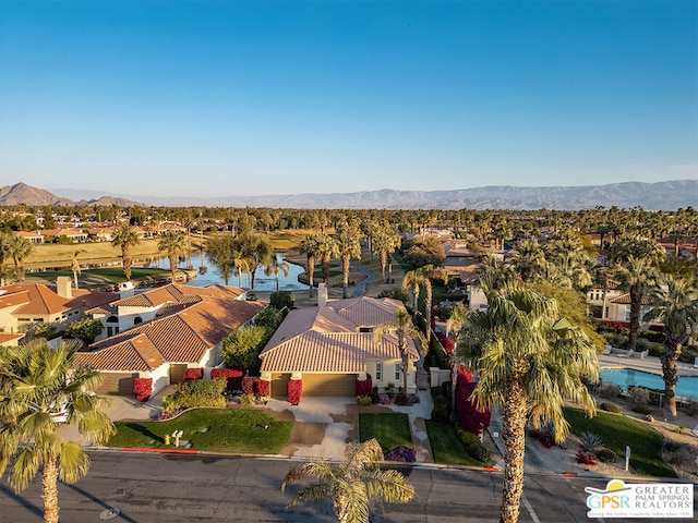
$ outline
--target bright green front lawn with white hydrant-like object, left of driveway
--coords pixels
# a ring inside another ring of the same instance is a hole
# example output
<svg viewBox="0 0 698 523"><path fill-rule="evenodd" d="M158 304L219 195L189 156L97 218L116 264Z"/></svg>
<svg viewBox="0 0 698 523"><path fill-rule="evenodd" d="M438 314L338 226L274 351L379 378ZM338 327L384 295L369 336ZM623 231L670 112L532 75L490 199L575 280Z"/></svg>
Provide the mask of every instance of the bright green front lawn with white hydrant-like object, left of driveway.
<svg viewBox="0 0 698 523"><path fill-rule="evenodd" d="M257 410L192 409L166 422L117 422L116 426L110 447L166 448L165 435L182 430L182 439L191 441L193 449L276 454L288 445L293 423L274 421Z"/></svg>

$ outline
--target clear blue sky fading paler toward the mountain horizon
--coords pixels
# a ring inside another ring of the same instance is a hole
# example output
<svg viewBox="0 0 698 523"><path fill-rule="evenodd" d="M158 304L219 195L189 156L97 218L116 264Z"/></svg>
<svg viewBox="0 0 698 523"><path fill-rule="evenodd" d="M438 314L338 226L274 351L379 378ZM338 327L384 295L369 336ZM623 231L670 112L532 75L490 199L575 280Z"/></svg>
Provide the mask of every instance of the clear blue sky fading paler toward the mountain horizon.
<svg viewBox="0 0 698 523"><path fill-rule="evenodd" d="M697 93L695 0L0 0L0 185L698 179Z"/></svg>

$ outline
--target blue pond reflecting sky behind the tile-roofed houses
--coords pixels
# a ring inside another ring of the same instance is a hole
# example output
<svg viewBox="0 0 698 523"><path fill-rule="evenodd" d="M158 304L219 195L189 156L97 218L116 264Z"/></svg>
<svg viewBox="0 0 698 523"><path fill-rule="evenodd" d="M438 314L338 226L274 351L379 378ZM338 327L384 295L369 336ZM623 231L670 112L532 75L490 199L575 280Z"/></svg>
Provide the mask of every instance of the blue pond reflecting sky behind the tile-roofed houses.
<svg viewBox="0 0 698 523"><path fill-rule="evenodd" d="M277 255L277 259L281 260L282 256ZM134 267L136 265L134 264ZM169 269L170 263L169 263L169 259L166 257L153 258L146 264L141 263L140 266L141 267L160 267L164 269ZM179 268L186 267L185 262L183 259L180 259L178 267ZM190 281L189 282L190 285L207 287L207 285L213 285L215 283L218 283L221 285L226 283L224 279L220 277L220 275L218 273L218 270L213 265L209 265L205 253L203 255L197 253L192 253L192 268L196 270L196 279ZM281 291L306 290L308 285L304 285L303 283L300 283L298 281L298 276L304 271L304 268L301 267L300 265L294 265L294 264L288 264L288 268L289 268L288 276L284 276L282 272L279 272L279 290ZM238 276L233 273L233 276L230 277L230 280L228 280L228 284L236 285L236 287L240 285L245 289L249 289L250 276L242 275L242 282L240 282ZM274 275L266 276L264 273L264 268L258 267L257 270L254 272L254 290L262 291L262 292L276 291L276 277Z"/></svg>

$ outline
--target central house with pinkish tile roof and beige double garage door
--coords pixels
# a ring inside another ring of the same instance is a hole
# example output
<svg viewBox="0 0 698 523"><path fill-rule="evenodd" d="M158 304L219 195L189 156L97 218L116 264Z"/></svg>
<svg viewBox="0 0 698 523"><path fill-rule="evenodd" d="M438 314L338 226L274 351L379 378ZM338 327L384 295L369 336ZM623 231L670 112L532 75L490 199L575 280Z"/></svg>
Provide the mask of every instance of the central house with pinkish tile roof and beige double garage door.
<svg viewBox="0 0 698 523"><path fill-rule="evenodd" d="M394 323L402 303L390 299L352 297L323 306L291 311L268 341L260 358L262 378L272 382L272 396L285 397L288 380L302 379L303 396L354 394L354 381L370 374L385 389L402 384L397 337L374 341L373 329ZM410 361L419 360L409 340ZM408 392L417 390L414 368L408 369Z"/></svg>

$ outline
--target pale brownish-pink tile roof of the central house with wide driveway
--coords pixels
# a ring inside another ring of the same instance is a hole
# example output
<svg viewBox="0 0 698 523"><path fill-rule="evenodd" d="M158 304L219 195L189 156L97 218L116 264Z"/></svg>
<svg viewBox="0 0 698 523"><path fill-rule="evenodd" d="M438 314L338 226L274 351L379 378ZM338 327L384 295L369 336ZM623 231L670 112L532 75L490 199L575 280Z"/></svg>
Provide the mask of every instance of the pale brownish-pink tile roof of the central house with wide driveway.
<svg viewBox="0 0 698 523"><path fill-rule="evenodd" d="M395 321L399 301L354 297L328 302L324 307L291 311L260 354L262 370L272 373L362 373L366 358L397 360L397 338L359 327ZM410 358L419 360L412 340Z"/></svg>

